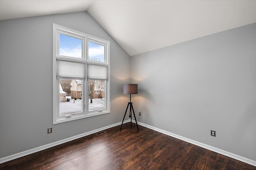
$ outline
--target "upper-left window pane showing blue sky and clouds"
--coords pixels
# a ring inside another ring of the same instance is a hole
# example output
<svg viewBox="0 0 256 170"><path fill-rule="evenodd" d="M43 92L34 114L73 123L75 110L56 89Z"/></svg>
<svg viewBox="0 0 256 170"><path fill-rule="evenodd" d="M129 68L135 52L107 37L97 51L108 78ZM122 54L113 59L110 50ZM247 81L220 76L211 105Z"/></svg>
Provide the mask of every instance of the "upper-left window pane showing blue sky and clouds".
<svg viewBox="0 0 256 170"><path fill-rule="evenodd" d="M82 59L82 39L60 34L59 54Z"/></svg>

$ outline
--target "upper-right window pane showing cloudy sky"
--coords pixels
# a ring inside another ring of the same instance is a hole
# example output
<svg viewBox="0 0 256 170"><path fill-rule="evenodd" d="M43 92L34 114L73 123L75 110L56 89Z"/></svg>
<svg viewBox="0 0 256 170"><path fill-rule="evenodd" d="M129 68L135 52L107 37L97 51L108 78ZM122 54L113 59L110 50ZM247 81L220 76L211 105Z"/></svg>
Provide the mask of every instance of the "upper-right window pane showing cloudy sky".
<svg viewBox="0 0 256 170"><path fill-rule="evenodd" d="M105 63L105 46L88 41L88 59Z"/></svg>

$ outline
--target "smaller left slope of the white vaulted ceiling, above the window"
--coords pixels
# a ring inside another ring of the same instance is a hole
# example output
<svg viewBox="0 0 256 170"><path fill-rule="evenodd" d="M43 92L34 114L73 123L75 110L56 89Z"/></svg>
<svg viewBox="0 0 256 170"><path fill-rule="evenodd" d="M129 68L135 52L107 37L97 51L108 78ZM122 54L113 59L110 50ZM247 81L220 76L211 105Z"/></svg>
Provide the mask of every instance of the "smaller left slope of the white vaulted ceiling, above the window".
<svg viewBox="0 0 256 170"><path fill-rule="evenodd" d="M93 0L0 0L0 20L86 11Z"/></svg>

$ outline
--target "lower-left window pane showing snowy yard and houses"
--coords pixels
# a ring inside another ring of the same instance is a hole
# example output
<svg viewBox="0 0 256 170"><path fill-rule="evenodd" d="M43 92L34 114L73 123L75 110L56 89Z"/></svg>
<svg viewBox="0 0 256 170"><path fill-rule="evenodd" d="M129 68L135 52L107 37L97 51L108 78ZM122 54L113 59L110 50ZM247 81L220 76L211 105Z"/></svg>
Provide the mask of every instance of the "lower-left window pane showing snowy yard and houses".
<svg viewBox="0 0 256 170"><path fill-rule="evenodd" d="M82 113L82 80L60 79L60 116Z"/></svg>

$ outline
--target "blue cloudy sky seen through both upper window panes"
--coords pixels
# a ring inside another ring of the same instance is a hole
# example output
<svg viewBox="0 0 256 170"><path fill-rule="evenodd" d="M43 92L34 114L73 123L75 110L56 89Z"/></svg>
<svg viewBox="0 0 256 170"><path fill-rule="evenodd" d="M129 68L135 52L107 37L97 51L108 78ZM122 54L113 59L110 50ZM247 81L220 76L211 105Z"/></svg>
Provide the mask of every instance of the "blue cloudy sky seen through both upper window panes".
<svg viewBox="0 0 256 170"><path fill-rule="evenodd" d="M60 55L82 59L82 39L60 34ZM88 56L91 60L104 62L104 45L88 42Z"/></svg>

